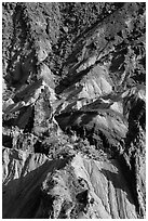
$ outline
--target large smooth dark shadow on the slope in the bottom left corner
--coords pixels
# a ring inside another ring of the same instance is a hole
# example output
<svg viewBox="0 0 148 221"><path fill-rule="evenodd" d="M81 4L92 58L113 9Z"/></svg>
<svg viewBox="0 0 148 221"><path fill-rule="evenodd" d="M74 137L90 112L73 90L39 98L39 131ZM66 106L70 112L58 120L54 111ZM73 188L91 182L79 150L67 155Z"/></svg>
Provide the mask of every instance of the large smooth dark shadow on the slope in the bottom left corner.
<svg viewBox="0 0 148 221"><path fill-rule="evenodd" d="M26 176L23 172L18 179L11 180L6 185L3 184L2 218L33 219L40 209L42 182L49 172L64 168L67 160L46 160L42 166Z"/></svg>

